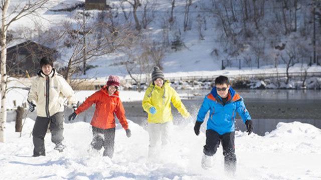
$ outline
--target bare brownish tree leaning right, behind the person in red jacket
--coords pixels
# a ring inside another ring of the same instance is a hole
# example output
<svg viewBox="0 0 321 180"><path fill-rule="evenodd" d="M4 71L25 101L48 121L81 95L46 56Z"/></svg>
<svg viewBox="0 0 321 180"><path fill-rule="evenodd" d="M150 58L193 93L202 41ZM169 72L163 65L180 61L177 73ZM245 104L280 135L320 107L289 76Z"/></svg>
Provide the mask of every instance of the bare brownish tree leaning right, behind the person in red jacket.
<svg viewBox="0 0 321 180"><path fill-rule="evenodd" d="M83 33L83 25L86 25L86 32ZM99 27L105 27L102 31ZM78 28L73 28L72 24L66 23L65 29L68 33L66 37L72 37L71 48L72 54L69 55L65 69L65 79L70 80L71 75L77 73L77 68L84 60L101 56L115 51L118 47L127 43L131 38L131 31L128 27L112 26L108 22L93 24L79 24ZM86 44L83 39L86 38ZM66 39L68 40L68 38ZM99 45L97 45L99 42ZM86 49L84 53L84 49Z"/></svg>

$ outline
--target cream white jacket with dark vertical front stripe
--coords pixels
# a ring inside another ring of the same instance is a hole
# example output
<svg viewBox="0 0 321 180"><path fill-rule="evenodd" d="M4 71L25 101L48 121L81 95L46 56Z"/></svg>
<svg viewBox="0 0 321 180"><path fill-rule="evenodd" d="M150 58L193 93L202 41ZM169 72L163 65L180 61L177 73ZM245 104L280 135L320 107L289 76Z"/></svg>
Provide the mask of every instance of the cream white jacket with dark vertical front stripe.
<svg viewBox="0 0 321 180"><path fill-rule="evenodd" d="M28 101L37 105L38 116L50 117L64 111L64 97L69 104L77 103L71 86L53 68L49 75L45 75L42 70L38 72L38 77L29 90Z"/></svg>

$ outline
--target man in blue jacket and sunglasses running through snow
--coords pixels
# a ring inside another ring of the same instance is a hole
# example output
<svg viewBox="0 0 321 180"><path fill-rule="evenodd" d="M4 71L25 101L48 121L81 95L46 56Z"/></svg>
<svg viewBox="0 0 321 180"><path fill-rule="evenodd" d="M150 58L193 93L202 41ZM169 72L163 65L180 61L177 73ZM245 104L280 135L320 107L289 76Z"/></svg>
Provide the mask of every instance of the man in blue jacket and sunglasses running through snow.
<svg viewBox="0 0 321 180"><path fill-rule="evenodd" d="M234 119L236 112L240 114L246 124L248 134L253 131L253 122L245 107L243 98L230 86L228 77L223 75L217 77L215 79L215 87L205 96L194 126L196 135L200 134L201 124L209 110L210 115L207 120L206 144L203 148L202 167L205 169L212 167L212 156L216 153L221 141L224 168L228 172L235 173Z"/></svg>

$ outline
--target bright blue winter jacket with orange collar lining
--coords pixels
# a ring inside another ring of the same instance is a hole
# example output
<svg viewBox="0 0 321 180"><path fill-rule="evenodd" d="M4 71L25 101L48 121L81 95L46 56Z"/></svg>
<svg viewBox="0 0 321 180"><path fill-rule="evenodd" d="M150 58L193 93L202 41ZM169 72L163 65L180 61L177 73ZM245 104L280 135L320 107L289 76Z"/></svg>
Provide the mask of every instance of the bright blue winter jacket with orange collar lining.
<svg viewBox="0 0 321 180"><path fill-rule="evenodd" d="M205 96L197 115L197 120L203 122L209 110L210 116L207 120L207 129L213 129L221 135L235 131L234 119L236 112L240 114L244 123L246 120L251 119L243 98L238 93L235 93L232 87L229 89L228 100L225 105L223 105L222 98L217 94L216 87L214 87L211 93Z"/></svg>

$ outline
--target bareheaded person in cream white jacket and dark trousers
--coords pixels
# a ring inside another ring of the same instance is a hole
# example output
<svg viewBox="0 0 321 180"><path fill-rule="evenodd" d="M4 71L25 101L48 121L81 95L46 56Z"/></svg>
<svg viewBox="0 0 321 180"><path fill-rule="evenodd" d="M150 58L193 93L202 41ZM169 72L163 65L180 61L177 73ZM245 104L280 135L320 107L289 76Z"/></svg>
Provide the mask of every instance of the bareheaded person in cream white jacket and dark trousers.
<svg viewBox="0 0 321 180"><path fill-rule="evenodd" d="M40 60L41 70L28 93L29 110L37 106L37 118L32 131L34 142L33 156L46 155L44 137L50 122L51 141L56 144L54 149L60 152L66 147L62 140L64 123L64 98L69 106L76 108L77 99L73 89L62 75L53 68L53 61L43 57Z"/></svg>

